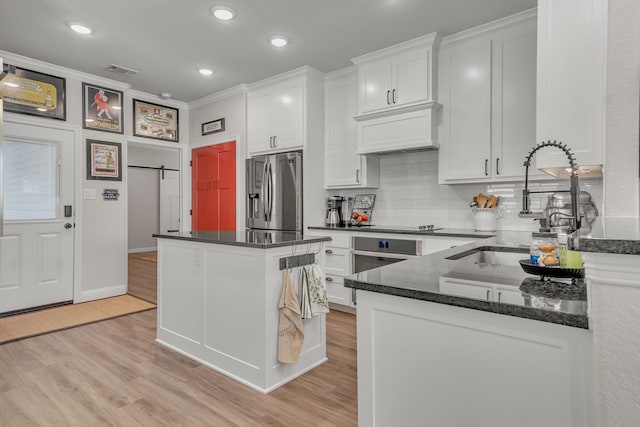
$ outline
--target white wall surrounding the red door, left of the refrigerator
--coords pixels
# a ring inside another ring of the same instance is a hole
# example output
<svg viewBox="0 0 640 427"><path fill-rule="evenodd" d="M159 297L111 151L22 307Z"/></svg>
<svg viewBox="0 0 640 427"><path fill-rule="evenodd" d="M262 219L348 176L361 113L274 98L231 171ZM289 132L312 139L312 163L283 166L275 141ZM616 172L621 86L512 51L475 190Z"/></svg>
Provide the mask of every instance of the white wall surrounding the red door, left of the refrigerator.
<svg viewBox="0 0 640 427"><path fill-rule="evenodd" d="M245 228L245 157L246 157L246 87L236 86L213 96L200 98L189 104L190 150L206 145L236 141L236 229ZM202 124L225 119L225 130L202 135ZM186 156L190 159L191 153ZM190 174L186 175L190 177ZM189 189L190 178L187 179ZM191 191L188 191L187 206L191 206ZM185 226L191 229L191 217L185 217Z"/></svg>

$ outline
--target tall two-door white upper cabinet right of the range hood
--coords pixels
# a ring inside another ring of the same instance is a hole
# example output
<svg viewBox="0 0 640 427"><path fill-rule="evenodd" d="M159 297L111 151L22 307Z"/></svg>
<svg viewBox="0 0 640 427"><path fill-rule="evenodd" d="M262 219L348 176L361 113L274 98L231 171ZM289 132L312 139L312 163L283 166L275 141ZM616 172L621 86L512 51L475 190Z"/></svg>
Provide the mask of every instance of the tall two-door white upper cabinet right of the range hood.
<svg viewBox="0 0 640 427"><path fill-rule="evenodd" d="M522 179L536 144L535 10L444 38L439 83L440 182Z"/></svg>

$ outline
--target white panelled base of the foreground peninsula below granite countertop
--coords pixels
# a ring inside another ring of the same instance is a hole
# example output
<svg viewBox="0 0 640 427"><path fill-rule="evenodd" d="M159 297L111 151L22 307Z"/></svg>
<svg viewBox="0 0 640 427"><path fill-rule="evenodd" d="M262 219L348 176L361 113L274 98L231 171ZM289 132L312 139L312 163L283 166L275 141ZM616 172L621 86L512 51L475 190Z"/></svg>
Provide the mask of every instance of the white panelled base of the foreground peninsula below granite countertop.
<svg viewBox="0 0 640 427"><path fill-rule="evenodd" d="M595 427L585 329L358 290L361 426Z"/></svg>

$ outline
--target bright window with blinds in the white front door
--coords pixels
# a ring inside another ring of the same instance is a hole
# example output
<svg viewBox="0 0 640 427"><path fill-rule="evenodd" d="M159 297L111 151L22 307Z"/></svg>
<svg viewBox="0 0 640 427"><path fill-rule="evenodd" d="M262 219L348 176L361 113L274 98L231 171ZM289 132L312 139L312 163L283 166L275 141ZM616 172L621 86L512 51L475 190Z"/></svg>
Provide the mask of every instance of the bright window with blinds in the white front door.
<svg viewBox="0 0 640 427"><path fill-rule="evenodd" d="M50 142L4 141L4 219L56 219L58 147Z"/></svg>

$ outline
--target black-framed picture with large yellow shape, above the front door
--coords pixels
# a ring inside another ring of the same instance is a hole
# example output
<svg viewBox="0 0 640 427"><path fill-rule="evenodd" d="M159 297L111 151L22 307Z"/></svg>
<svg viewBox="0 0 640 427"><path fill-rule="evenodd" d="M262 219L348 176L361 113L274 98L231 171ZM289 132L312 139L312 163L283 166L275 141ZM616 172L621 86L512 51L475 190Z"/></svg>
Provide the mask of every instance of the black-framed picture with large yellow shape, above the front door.
<svg viewBox="0 0 640 427"><path fill-rule="evenodd" d="M50 119L67 120L67 80L5 64L0 96L4 110Z"/></svg>

